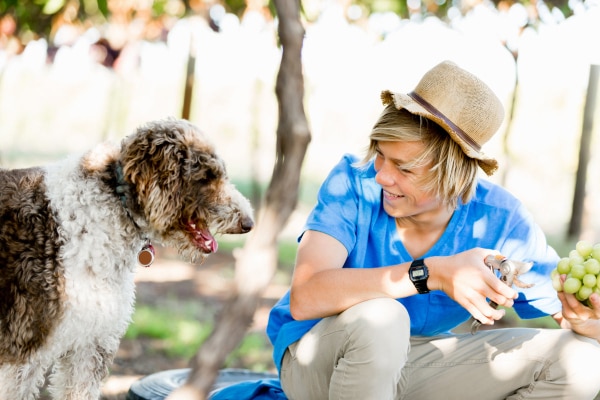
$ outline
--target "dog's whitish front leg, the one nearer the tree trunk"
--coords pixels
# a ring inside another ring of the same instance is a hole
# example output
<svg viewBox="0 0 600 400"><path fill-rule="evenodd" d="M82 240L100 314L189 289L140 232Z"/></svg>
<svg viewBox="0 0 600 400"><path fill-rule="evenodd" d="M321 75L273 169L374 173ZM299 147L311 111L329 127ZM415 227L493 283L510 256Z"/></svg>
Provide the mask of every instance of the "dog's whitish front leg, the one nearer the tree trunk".
<svg viewBox="0 0 600 400"><path fill-rule="evenodd" d="M50 376L50 393L56 400L97 400L108 375L113 351L100 346L78 348L63 355Z"/></svg>

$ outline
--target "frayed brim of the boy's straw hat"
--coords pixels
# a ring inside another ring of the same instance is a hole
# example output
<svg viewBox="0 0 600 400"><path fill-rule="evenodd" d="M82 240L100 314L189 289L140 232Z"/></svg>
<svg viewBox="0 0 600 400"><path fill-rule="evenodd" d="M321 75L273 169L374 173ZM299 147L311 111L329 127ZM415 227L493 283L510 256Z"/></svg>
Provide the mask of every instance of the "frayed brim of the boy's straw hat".
<svg viewBox="0 0 600 400"><path fill-rule="evenodd" d="M394 106L400 110L405 109L411 114L420 115L421 117L427 118L438 124L442 129L444 129L452 140L454 140L463 152L471 158L477 160L481 169L487 174L492 175L498 169L498 161L494 158L487 156L482 151L477 151L471 146L469 146L465 141L460 137L460 135L454 130L452 126L450 126L446 121L438 116L427 111L423 106L417 103L412 97L403 93L394 93L389 90L383 91L381 93L381 101L384 105L388 105L390 103L394 103Z"/></svg>

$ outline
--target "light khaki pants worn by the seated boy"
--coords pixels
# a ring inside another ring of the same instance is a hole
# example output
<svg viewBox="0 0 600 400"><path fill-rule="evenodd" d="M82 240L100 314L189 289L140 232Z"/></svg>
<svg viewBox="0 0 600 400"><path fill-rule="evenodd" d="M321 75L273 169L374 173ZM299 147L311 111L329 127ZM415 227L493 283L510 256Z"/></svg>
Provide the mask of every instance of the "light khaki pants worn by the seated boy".
<svg viewBox="0 0 600 400"><path fill-rule="evenodd" d="M406 309L375 299L325 318L288 347L290 399L591 400L600 345L565 329L410 337Z"/></svg>

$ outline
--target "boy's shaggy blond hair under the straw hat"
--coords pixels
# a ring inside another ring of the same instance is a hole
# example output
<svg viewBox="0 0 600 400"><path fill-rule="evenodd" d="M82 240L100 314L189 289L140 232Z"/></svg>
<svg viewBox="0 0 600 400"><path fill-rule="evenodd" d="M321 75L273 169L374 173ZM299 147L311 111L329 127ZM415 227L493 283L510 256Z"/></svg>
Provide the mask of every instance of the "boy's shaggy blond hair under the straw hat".
<svg viewBox="0 0 600 400"><path fill-rule="evenodd" d="M421 190L432 193L444 204L456 208L458 201L468 202L477 185L477 160L468 157L435 122L394 104L384 108L369 136L370 144L362 163L373 159L378 142L423 142L425 150L412 162L403 165L411 169L431 163L429 172L416 183Z"/></svg>

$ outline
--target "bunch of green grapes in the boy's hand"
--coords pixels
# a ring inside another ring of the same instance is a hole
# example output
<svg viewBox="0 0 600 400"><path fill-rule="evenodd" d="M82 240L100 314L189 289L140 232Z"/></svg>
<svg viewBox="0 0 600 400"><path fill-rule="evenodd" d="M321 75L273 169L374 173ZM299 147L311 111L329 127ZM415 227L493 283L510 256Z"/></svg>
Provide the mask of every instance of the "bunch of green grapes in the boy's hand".
<svg viewBox="0 0 600 400"><path fill-rule="evenodd" d="M560 275L567 275L564 284L560 282ZM590 295L600 294L600 243L577 242L569 256L558 261L551 277L556 291L574 294L581 303L589 305Z"/></svg>

